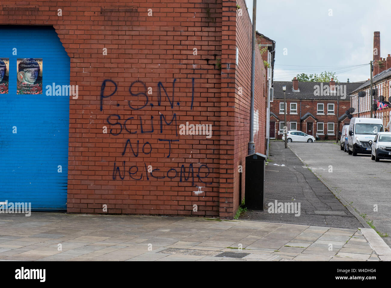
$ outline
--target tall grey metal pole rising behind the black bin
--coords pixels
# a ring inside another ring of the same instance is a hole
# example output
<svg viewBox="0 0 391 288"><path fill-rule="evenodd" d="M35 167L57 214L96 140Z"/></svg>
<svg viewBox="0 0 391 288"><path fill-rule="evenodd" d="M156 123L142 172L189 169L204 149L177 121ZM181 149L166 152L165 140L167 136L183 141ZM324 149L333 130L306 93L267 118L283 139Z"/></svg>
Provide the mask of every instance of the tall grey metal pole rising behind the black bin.
<svg viewBox="0 0 391 288"><path fill-rule="evenodd" d="M254 86L255 86L255 20L256 20L256 0L253 0L253 40L251 50L251 104L250 104L250 140L248 142L248 155L255 153L254 143Z"/></svg>

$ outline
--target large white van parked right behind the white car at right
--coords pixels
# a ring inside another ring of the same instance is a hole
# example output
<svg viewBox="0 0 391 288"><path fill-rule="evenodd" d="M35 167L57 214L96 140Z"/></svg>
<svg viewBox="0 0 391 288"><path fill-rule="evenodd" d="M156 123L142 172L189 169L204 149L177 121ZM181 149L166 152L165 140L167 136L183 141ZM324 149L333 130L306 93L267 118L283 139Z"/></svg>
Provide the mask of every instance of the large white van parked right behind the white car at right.
<svg viewBox="0 0 391 288"><path fill-rule="evenodd" d="M383 132L383 121L378 118L352 118L349 125L348 153L356 156L372 153L372 142L378 132Z"/></svg>

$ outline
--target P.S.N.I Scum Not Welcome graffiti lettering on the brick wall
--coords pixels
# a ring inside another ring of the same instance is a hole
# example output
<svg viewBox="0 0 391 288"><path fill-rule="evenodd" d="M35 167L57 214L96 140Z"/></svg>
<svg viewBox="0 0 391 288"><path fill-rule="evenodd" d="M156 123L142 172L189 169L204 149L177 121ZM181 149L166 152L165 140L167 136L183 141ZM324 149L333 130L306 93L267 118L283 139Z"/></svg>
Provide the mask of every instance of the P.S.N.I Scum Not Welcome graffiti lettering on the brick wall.
<svg viewBox="0 0 391 288"><path fill-rule="evenodd" d="M174 109L175 104L179 106L179 102L175 102L175 82L176 79L172 82L172 95L169 95L165 89L163 83L158 83L158 106L162 106L162 103L167 100L166 103L169 103L169 106L164 105L165 108L171 107ZM106 90L107 84L114 85L114 91L111 94L108 94ZM138 85L138 86L137 86ZM137 88L143 88L144 91L136 92ZM109 97L116 94L118 89L117 83L112 81L111 79L106 79L102 82L100 87L100 111L103 111L103 101L104 99L109 99ZM141 106L132 106L132 101L127 101L127 106L130 108L127 111L133 110L146 110L147 106L154 106L151 99L147 94L147 86L143 81L137 80L131 83L129 86L129 95L141 97L143 101L143 105ZM106 95L108 94L108 95ZM192 99L190 109L193 110L193 102L194 102L194 78L192 79ZM117 107L120 106L117 104ZM125 107L124 107L125 108ZM127 107L126 107L127 108ZM125 110L124 110L125 111ZM169 158L172 153L175 153L175 149L171 144L179 142L178 135L178 124L177 124L177 114L173 113L174 111L162 110L159 112L158 119L154 119L152 115L133 115L130 117L122 118L121 115L118 114L110 114L106 122L110 125L109 134L111 137L116 137L120 134L157 134L161 135L158 138L158 144L168 144L168 152L161 154L160 157ZM125 114L125 113L124 113ZM129 124L131 121L136 121L137 124ZM138 122L140 121L140 122ZM147 124L147 126L144 123ZM136 127L132 127L136 126ZM175 134L167 135L163 134L163 131L174 129L176 131ZM173 137L173 139L167 139L167 137ZM151 157L151 153L157 151L158 147L153 147L151 143L146 141L145 139L137 139L136 143L132 143L131 139L126 139L124 141L124 149L122 151L122 156L129 158L135 158L133 162L116 161L113 163L113 180L124 180L126 177L133 180L145 180L149 179L167 179L171 181L179 181L179 182L191 182L192 186L194 183L204 183L204 184L212 184L212 182L207 182L207 178L209 174L212 173L210 168L206 164L200 164L199 167L193 167L192 163L179 163L179 167L172 167L167 169L167 171L161 171L159 168L151 168L152 166L149 163L143 162L140 164L140 161L137 161L137 158L142 158L145 160L146 157ZM198 192L198 191L197 191ZM201 191L202 192L202 191Z"/></svg>

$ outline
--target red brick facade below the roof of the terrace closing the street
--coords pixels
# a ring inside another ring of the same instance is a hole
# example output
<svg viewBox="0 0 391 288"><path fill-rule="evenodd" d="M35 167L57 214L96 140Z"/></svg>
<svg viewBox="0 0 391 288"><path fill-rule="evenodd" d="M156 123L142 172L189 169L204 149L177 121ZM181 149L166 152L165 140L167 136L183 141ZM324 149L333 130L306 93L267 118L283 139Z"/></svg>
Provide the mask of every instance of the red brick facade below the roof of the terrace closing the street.
<svg viewBox="0 0 391 288"><path fill-rule="evenodd" d="M282 135L278 135L278 129L279 129L279 122L284 121L284 114L280 114L280 102L283 103L283 99L276 99L274 98L274 101L270 103L270 110L274 114L277 115L277 117L280 119L280 121L276 121L276 139L282 139ZM290 114L290 103L297 103L297 115ZM323 103L325 115L317 115L317 103ZM327 104L328 103L334 103L334 113L335 115L327 115ZM341 117L346 110L350 108L350 101L348 100L341 100L339 101L339 117ZM311 101L311 100L302 100L301 101L301 116L305 115L305 113L310 112L314 117L317 119L317 122L323 122L324 127L323 131L325 131L325 134L327 133L327 123L328 122L334 122L334 134L338 133L341 131L343 122L350 122L350 120L343 120L340 122L340 129L337 130L337 101L324 101L324 100L319 100L319 101ZM270 121L275 121L274 117L270 118ZM316 137L317 133L317 127L316 127L316 122L312 120L312 118L306 119L305 122L301 122L301 127L300 127L300 100L295 100L295 99L287 99L287 122L297 122L297 130L303 131L304 133L307 133L307 122L314 122L314 133L313 136ZM320 139L325 139L325 135L320 135ZM335 139L335 135L328 135L328 140Z"/></svg>

